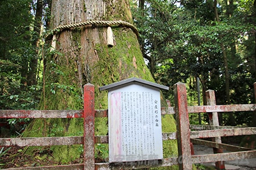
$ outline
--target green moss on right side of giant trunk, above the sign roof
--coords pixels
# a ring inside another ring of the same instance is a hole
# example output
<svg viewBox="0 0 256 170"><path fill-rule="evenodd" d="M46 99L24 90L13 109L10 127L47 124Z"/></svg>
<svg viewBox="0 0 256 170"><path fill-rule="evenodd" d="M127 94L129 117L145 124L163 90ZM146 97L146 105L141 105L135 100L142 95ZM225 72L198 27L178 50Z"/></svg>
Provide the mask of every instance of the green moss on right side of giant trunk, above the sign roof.
<svg viewBox="0 0 256 170"><path fill-rule="evenodd" d="M154 81L142 57L137 37L133 31L113 28L116 45L109 47L102 43L96 44L99 61L93 66L92 82L96 86L96 103L98 109L108 108L107 92L99 92L97 87L105 86L119 80L139 75L139 78ZM104 41L105 37L100 36ZM134 66L133 59L137 67Z"/></svg>

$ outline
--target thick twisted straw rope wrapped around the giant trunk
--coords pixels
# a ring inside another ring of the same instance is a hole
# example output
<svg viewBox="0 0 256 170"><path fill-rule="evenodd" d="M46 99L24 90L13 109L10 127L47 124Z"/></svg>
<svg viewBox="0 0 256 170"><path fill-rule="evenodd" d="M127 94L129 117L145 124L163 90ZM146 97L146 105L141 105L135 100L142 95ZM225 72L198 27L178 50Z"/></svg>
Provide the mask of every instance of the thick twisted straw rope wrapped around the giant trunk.
<svg viewBox="0 0 256 170"><path fill-rule="evenodd" d="M68 24L68 25L60 25L59 27L56 27L53 29L53 34L56 34L56 32L60 32L63 29L69 29L69 28L75 28L75 27L82 27L85 25L100 25L100 26L124 26L129 27L133 29L133 31L136 33L137 37L139 36L138 29L131 23L124 22L124 21L106 21L106 20L92 20L88 22L82 22L82 23L76 23L76 24Z"/></svg>

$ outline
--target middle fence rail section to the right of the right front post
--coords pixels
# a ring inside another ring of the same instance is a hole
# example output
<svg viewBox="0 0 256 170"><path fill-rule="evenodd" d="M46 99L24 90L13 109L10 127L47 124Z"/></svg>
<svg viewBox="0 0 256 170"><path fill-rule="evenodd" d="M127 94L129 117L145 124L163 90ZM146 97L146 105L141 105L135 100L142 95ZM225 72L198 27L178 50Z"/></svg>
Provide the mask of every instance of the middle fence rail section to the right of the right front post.
<svg viewBox="0 0 256 170"><path fill-rule="evenodd" d="M190 137L191 139L195 139L195 138L228 137L228 136L253 135L253 134L256 134L256 128L236 128L236 129L191 131Z"/></svg>

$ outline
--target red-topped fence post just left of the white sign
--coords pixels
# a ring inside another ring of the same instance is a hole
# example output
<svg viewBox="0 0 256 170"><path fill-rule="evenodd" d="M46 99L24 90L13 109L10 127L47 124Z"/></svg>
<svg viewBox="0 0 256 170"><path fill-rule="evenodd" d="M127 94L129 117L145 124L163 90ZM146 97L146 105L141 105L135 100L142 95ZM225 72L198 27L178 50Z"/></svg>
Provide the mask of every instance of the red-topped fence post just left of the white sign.
<svg viewBox="0 0 256 170"><path fill-rule="evenodd" d="M94 170L94 86L84 86L84 169Z"/></svg>

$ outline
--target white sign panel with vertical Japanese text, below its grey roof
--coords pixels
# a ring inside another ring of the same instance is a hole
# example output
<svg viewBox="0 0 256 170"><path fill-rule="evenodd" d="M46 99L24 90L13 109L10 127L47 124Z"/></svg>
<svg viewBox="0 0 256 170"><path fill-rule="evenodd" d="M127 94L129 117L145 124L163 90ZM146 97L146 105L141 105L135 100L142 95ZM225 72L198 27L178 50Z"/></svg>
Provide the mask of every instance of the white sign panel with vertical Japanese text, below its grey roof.
<svg viewBox="0 0 256 170"><path fill-rule="evenodd" d="M109 162L163 159L160 92L131 84L109 91Z"/></svg>

